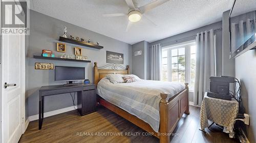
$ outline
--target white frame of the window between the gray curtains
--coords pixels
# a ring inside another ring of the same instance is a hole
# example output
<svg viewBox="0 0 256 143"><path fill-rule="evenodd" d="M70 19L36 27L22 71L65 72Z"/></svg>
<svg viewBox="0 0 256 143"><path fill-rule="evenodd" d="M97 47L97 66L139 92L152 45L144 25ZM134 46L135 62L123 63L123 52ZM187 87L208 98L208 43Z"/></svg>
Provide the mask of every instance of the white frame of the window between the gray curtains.
<svg viewBox="0 0 256 143"><path fill-rule="evenodd" d="M191 46L196 46L196 40L191 40L187 42L178 43L175 45L169 45L162 48L163 51L167 51L167 81L172 81L172 50L185 48L185 82L190 83L190 58L191 58ZM197 53L196 53L197 54ZM179 56L179 54L178 54ZM161 65L161 71L162 71ZM161 76L162 78L162 76ZM161 79L162 80L162 79ZM191 89L190 89L191 90Z"/></svg>

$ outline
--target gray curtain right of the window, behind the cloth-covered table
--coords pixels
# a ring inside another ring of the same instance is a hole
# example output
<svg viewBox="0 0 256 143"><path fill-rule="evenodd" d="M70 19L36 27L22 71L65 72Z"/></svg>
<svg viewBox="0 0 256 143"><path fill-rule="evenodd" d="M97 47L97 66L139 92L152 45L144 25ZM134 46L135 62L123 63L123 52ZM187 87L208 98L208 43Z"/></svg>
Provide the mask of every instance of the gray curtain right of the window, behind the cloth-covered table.
<svg viewBox="0 0 256 143"><path fill-rule="evenodd" d="M204 93L209 90L210 76L216 76L214 30L201 32L196 36L197 60L194 89L194 105L201 106Z"/></svg>

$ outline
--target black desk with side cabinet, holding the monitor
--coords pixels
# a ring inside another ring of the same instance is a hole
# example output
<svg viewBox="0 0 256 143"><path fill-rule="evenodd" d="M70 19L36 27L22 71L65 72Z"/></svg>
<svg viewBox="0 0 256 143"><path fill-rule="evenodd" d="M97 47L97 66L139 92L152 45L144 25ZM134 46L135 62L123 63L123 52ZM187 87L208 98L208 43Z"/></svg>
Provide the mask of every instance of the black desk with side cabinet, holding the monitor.
<svg viewBox="0 0 256 143"><path fill-rule="evenodd" d="M72 92L77 92L77 109L81 116L95 111L96 96L94 84L79 83L74 85L62 84L41 87L39 89L39 130L44 120L44 97Z"/></svg>

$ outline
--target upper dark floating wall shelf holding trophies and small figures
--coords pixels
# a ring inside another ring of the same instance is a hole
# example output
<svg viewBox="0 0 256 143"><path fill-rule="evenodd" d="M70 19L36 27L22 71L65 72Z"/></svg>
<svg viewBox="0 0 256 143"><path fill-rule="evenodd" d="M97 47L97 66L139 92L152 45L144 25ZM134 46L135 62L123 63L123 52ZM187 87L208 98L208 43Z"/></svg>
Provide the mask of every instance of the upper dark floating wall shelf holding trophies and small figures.
<svg viewBox="0 0 256 143"><path fill-rule="evenodd" d="M77 41L74 39L69 39L69 38L64 38L64 37L59 37L59 41L65 42L65 43L71 43L71 44L75 44L75 45L80 45L80 46L84 46L84 47L103 49L103 46L99 46L99 45L91 44L91 43L87 43L87 42L82 42L82 41Z"/></svg>

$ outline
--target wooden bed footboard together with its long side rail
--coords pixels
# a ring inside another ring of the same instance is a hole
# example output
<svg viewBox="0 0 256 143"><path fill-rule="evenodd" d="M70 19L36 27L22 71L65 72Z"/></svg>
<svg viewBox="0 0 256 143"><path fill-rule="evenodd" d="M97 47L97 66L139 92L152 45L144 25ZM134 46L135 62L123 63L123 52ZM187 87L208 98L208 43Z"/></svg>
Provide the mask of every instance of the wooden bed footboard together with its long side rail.
<svg viewBox="0 0 256 143"><path fill-rule="evenodd" d="M160 101L160 127L159 132L155 132L151 126L129 112L111 104L110 102L104 100L100 96L97 96L97 101L100 105L112 110L117 113L122 118L132 122L136 126L142 128L143 130L153 134L160 139L160 143L167 143L170 141L170 135L172 135L178 121L182 117L183 113L189 114L188 105L188 87L185 83L186 89L170 98L169 101L166 100L167 94L161 93Z"/></svg>

